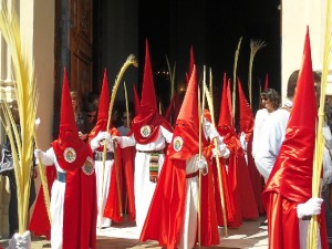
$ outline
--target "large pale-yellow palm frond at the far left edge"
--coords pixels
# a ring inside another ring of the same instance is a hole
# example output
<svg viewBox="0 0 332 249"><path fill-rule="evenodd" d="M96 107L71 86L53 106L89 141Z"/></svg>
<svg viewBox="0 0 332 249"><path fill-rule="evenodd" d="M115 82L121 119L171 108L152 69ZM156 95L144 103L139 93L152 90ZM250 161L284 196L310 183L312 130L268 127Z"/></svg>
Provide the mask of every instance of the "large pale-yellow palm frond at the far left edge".
<svg viewBox="0 0 332 249"><path fill-rule="evenodd" d="M9 12L6 3L2 3L0 13L0 32L7 42L11 53L13 65L14 87L18 98L20 115L20 132L15 128L15 122L8 107L3 110L7 133L12 148L14 173L18 191L19 232L27 230L28 208L30 195L30 179L33 165L33 136L34 120L37 113L37 89L34 75L34 62L31 42L20 35L18 15L14 11ZM13 132L10 132L13 131Z"/></svg>

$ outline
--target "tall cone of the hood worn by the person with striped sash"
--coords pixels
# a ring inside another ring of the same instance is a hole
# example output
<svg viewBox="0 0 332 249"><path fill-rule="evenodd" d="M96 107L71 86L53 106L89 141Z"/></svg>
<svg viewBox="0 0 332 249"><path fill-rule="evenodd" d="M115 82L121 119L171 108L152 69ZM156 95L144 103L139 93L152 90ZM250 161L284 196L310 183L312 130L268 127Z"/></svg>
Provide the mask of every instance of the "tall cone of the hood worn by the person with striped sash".
<svg viewBox="0 0 332 249"><path fill-rule="evenodd" d="M154 84L153 71L152 71L152 65L149 60L147 40L146 40L146 48L145 48L145 65L144 65L141 107L157 110L157 100L155 94L155 84Z"/></svg>

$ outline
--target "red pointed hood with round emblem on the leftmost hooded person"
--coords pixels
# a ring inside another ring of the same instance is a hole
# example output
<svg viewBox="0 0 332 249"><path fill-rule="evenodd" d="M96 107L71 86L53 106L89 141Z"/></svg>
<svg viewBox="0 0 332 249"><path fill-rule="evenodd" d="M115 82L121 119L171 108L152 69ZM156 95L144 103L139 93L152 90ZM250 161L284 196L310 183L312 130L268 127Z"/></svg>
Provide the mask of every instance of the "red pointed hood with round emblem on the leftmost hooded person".
<svg viewBox="0 0 332 249"><path fill-rule="evenodd" d="M66 69L63 72L60 133L59 138L52 143L52 147L60 167L64 170L82 167L91 153L90 146L79 137Z"/></svg>

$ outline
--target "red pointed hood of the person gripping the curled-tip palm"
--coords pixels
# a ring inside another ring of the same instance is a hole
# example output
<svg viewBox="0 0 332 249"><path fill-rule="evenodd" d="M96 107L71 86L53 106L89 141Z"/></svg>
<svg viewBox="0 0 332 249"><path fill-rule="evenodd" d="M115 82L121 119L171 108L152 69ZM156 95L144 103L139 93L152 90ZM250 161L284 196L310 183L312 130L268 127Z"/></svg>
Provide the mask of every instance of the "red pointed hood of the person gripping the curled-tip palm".
<svg viewBox="0 0 332 249"><path fill-rule="evenodd" d="M106 69L104 70L103 85L100 95L100 106L97 122L94 128L89 134L89 142L94 138L100 132L105 132L108 122L108 110L110 110L110 89L107 81Z"/></svg>

